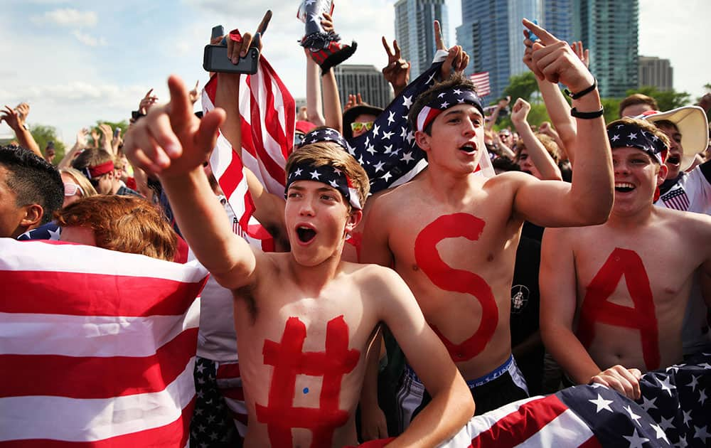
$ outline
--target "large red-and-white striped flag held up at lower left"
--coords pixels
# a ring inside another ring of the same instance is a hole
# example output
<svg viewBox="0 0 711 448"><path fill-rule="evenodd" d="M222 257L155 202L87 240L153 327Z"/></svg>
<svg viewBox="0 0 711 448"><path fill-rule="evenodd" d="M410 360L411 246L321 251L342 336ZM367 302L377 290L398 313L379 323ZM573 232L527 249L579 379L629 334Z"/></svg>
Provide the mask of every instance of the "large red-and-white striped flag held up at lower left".
<svg viewBox="0 0 711 448"><path fill-rule="evenodd" d="M0 445L184 447L207 274L0 238Z"/></svg>

